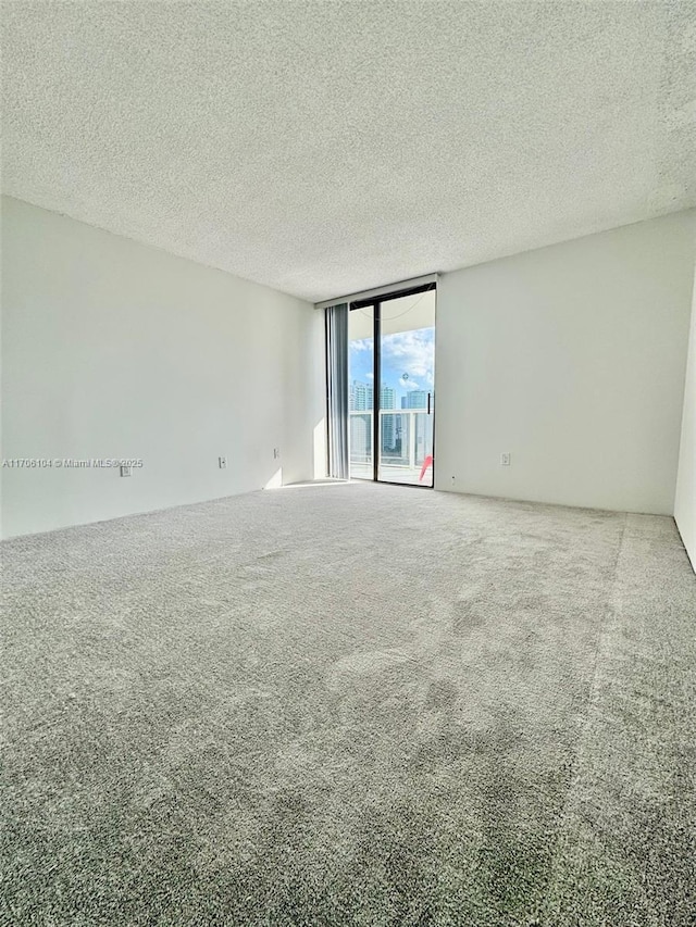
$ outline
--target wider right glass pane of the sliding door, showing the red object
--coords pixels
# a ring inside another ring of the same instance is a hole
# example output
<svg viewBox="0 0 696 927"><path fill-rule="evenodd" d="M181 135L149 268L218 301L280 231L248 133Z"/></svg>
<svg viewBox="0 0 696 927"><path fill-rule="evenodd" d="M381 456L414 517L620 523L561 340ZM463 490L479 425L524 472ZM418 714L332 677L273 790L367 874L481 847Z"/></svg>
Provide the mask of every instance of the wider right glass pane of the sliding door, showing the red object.
<svg viewBox="0 0 696 927"><path fill-rule="evenodd" d="M435 290L383 300L378 313L377 479L432 487Z"/></svg>

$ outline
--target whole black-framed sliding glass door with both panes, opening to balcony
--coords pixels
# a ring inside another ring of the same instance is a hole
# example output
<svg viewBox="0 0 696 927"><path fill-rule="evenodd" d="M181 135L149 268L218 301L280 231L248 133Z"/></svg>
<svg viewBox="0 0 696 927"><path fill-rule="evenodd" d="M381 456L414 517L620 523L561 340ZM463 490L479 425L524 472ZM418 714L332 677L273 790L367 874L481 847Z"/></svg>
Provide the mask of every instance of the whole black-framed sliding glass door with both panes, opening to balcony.
<svg viewBox="0 0 696 927"><path fill-rule="evenodd" d="M348 397L350 477L432 487L434 285L351 304Z"/></svg>

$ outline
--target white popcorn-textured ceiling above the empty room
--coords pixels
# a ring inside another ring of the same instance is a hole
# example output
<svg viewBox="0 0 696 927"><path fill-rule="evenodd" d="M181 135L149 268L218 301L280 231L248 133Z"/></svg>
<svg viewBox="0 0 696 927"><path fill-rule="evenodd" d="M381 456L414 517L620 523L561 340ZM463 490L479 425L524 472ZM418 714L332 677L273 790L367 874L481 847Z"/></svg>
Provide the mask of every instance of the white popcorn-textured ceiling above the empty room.
<svg viewBox="0 0 696 927"><path fill-rule="evenodd" d="M3 7L3 189L321 300L696 204L693 2Z"/></svg>

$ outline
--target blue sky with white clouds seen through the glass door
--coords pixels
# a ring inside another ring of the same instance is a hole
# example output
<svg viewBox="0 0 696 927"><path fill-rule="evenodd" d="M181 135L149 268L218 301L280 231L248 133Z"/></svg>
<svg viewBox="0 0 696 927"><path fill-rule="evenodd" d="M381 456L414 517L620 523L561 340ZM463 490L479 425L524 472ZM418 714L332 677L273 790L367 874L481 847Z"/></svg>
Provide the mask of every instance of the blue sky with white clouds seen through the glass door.
<svg viewBox="0 0 696 927"><path fill-rule="evenodd" d="M382 383L397 396L412 389L433 390L435 329L417 328L382 336ZM372 338L349 342L350 383L372 383Z"/></svg>

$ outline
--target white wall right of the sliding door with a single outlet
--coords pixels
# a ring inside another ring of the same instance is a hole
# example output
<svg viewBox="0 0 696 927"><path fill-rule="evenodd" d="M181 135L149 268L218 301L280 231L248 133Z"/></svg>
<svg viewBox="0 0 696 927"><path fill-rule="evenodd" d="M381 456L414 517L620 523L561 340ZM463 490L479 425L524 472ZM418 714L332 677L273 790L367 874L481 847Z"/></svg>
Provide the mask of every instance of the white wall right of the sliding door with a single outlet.
<svg viewBox="0 0 696 927"><path fill-rule="evenodd" d="M692 210L445 274L436 487L671 515L695 234Z"/></svg>

